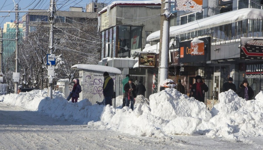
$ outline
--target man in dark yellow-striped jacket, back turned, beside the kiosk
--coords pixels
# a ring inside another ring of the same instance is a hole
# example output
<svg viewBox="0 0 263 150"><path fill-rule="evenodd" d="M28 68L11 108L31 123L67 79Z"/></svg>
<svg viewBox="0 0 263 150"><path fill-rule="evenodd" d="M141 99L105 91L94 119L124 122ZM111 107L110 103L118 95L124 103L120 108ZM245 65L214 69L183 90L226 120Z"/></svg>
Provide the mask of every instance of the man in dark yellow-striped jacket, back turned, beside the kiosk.
<svg viewBox="0 0 263 150"><path fill-rule="evenodd" d="M113 79L110 77L108 72L103 73L104 82L103 82L103 96L105 98L105 105L112 106L112 96L113 96Z"/></svg>

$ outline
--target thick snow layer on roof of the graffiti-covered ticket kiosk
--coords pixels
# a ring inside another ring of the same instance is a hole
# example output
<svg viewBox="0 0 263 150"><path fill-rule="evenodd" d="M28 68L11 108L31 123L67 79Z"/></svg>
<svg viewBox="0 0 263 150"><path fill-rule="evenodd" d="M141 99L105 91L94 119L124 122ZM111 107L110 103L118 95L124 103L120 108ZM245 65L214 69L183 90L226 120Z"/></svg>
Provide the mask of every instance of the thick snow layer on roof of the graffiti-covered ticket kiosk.
<svg viewBox="0 0 263 150"><path fill-rule="evenodd" d="M110 67L110 66L101 66L101 65L89 65L89 64L77 64L71 67L72 69L86 69L86 70L94 70L108 73L117 73L121 74L122 71L118 68Z"/></svg>

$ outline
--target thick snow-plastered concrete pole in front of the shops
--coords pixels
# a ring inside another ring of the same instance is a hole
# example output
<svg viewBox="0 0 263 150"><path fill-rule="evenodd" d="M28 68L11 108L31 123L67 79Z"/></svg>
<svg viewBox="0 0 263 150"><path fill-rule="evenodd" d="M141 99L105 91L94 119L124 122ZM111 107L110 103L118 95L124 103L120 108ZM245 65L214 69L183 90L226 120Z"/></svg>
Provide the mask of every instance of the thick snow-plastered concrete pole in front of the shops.
<svg viewBox="0 0 263 150"><path fill-rule="evenodd" d="M162 0L161 4L161 30L159 47L159 68L158 68L158 91L160 85L168 78L168 52L169 52L169 28L171 4Z"/></svg>

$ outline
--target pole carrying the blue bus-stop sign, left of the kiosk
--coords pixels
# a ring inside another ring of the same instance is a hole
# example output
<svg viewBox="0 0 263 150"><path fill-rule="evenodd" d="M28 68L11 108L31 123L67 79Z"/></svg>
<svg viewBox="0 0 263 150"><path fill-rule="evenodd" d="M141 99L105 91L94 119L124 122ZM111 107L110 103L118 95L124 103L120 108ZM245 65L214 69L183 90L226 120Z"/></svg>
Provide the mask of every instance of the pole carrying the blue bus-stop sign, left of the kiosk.
<svg viewBox="0 0 263 150"><path fill-rule="evenodd" d="M49 7L49 26L50 26L50 32L49 32L49 50L50 53L49 54L53 54L53 49L54 49L54 32L53 32L53 23L55 22L55 17L54 17L54 13L55 13L55 4L54 4L54 0L50 0L50 7ZM49 64L50 66L51 63ZM48 96L50 98L52 98L52 92L53 92L53 76L49 75L48 76Z"/></svg>

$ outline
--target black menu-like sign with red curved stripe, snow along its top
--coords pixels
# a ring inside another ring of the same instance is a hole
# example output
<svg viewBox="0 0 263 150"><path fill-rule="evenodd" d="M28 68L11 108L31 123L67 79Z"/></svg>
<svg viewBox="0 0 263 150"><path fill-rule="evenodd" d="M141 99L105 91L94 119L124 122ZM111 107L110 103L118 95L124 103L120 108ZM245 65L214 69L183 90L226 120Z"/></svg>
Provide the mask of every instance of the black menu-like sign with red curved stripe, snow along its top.
<svg viewBox="0 0 263 150"><path fill-rule="evenodd" d="M263 60L263 39L241 38L240 59Z"/></svg>

